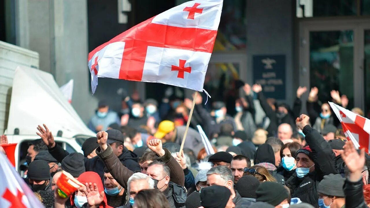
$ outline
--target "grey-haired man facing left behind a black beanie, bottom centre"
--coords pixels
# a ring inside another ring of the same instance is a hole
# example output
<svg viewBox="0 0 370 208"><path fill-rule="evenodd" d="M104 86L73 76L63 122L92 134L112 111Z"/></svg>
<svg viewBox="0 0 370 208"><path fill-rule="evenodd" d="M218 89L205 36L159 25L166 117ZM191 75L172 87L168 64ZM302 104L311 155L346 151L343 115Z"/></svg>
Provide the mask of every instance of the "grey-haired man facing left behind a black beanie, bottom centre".
<svg viewBox="0 0 370 208"><path fill-rule="evenodd" d="M211 168L207 172L207 185L221 185L230 189L235 208L245 208L251 205L250 201L243 199L238 191L234 190L234 176L230 168L226 166L217 166Z"/></svg>

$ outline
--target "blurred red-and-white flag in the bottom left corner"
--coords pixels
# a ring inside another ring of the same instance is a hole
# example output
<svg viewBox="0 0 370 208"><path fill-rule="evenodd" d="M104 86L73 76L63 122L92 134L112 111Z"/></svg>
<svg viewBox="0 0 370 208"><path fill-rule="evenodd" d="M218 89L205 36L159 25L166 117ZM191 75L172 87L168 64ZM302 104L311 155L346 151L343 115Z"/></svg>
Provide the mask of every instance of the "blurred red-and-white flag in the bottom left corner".
<svg viewBox="0 0 370 208"><path fill-rule="evenodd" d="M43 208L36 195L28 188L19 173L0 152L0 207Z"/></svg>

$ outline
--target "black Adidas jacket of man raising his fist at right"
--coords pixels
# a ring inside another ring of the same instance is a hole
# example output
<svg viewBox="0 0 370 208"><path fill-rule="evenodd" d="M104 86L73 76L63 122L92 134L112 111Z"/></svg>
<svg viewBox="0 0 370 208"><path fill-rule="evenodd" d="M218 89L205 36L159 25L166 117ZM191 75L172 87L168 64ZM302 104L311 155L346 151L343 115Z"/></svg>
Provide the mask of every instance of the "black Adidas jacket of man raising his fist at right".
<svg viewBox="0 0 370 208"><path fill-rule="evenodd" d="M313 162L315 163L315 171L310 172L303 178L298 178L296 173L286 181L286 186L290 188L292 198L298 197L302 202L312 204L314 207L319 207L317 201L317 186L323 179L324 175L337 174L335 168L335 155L330 145L322 138L322 136L306 125L303 128L303 134L306 135L305 140L310 146L313 153Z"/></svg>

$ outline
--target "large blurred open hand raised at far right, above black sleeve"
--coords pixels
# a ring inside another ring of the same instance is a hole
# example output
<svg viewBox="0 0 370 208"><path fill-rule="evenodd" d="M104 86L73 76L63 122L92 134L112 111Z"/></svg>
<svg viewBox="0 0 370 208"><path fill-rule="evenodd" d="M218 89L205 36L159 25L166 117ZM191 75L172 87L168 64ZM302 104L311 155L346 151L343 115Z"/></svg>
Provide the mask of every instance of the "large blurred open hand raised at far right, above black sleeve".
<svg viewBox="0 0 370 208"><path fill-rule="evenodd" d="M361 178L361 172L365 165L365 149L362 149L360 154L357 153L352 141L346 142L343 147L343 152L340 154L345 162L348 170L351 172L350 180L358 181Z"/></svg>

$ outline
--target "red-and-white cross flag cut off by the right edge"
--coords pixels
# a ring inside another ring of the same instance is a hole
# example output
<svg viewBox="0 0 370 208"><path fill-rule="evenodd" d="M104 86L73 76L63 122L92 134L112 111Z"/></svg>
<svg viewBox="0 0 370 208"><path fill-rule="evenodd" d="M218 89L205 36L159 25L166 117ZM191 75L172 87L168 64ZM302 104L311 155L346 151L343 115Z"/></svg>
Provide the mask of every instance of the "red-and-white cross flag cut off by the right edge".
<svg viewBox="0 0 370 208"><path fill-rule="evenodd" d="M342 124L347 140L351 140L357 149L365 148L366 152L370 153L370 120L332 102L329 102L329 105Z"/></svg>

